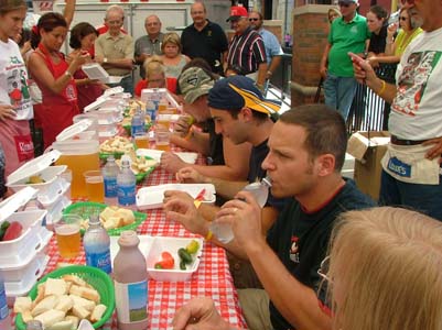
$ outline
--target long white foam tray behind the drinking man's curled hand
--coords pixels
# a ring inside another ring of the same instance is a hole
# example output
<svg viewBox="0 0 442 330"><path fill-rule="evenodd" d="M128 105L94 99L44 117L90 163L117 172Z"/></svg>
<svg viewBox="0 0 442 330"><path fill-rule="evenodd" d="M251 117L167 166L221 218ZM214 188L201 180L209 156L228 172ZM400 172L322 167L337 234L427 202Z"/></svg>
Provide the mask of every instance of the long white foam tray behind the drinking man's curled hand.
<svg viewBox="0 0 442 330"><path fill-rule="evenodd" d="M213 204L216 200L215 186L212 184L166 184L151 187L143 187L137 193L137 208L139 210L158 209L163 206L165 190L180 190L187 193L192 198L205 189L202 202Z"/></svg>

